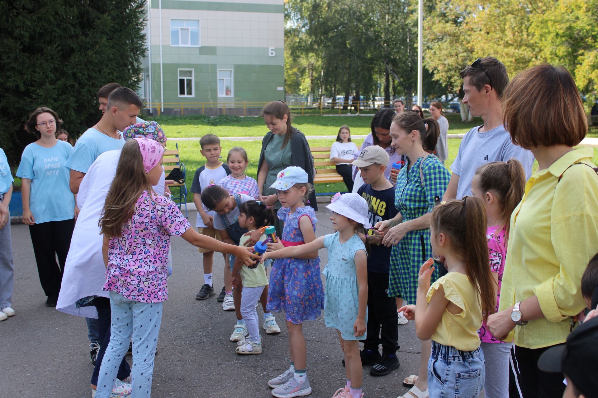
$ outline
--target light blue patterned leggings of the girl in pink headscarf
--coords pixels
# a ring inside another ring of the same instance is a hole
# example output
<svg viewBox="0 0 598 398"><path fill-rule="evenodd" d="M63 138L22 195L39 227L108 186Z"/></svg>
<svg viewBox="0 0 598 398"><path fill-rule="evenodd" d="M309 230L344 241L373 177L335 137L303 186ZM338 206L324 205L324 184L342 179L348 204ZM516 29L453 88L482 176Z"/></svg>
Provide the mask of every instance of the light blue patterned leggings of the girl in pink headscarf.
<svg viewBox="0 0 598 398"><path fill-rule="evenodd" d="M154 372L154 355L162 320L162 303L138 303L110 292L112 326L110 344L102 360L96 398L109 398L118 366L133 337L132 398L149 398Z"/></svg>

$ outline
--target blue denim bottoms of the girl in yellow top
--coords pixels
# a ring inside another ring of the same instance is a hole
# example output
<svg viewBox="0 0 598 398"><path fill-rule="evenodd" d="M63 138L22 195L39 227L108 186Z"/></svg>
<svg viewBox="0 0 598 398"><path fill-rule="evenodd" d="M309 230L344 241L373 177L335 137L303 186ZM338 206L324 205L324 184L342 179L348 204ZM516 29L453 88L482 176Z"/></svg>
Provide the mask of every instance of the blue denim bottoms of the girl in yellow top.
<svg viewBox="0 0 598 398"><path fill-rule="evenodd" d="M428 361L428 394L434 398L477 398L484 385L484 353L460 351L432 341Z"/></svg>

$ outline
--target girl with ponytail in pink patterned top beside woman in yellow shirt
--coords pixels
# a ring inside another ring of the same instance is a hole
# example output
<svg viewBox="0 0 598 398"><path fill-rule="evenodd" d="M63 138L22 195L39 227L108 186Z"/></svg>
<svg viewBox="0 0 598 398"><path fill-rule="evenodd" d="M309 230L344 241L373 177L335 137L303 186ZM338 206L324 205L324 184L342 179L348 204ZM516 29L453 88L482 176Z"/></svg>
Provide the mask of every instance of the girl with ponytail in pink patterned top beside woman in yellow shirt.
<svg viewBox="0 0 598 398"><path fill-rule="evenodd" d="M496 307L501 297L502 274L507 260L507 241L511 213L521 201L525 188L525 171L521 162L511 159L508 162L492 162L477 169L471 181L471 192L480 198L486 209L486 239L490 271L494 278L493 291L496 292ZM481 349L486 359L486 398L509 397L509 358L512 341L498 340L488 330L486 322L478 331ZM515 369L514 369L515 370ZM517 382L517 380L514 380Z"/></svg>

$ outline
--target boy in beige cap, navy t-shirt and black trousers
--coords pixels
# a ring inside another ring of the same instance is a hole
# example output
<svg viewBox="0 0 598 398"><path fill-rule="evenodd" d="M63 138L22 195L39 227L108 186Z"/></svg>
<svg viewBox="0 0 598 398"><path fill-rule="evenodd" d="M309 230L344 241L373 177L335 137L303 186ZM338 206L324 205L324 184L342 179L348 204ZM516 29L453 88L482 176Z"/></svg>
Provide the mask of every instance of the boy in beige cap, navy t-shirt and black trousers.
<svg viewBox="0 0 598 398"><path fill-rule="evenodd" d="M361 178L364 179L364 184L357 193L368 202L368 216L372 225L389 220L397 214L394 205L395 187L384 175L389 161L386 150L379 146L369 146L351 163L359 168ZM363 365L373 365L370 375L383 376L399 367L396 357L396 350L399 348L396 299L388 297L391 248L381 245L380 238L371 229L368 230L366 239L371 245L368 257L368 334L361 351L361 362ZM378 351L381 343L382 356Z"/></svg>

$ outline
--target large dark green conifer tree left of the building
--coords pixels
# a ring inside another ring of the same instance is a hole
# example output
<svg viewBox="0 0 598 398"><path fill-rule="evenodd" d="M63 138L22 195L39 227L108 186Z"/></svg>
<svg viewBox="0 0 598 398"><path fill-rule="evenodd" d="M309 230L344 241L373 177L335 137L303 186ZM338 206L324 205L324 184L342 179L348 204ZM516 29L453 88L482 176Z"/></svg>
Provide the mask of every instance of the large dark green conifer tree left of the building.
<svg viewBox="0 0 598 398"><path fill-rule="evenodd" d="M145 0L0 2L0 146L15 164L33 140L23 125L39 106L73 137L100 118L95 93L109 82L136 90L145 56Z"/></svg>

